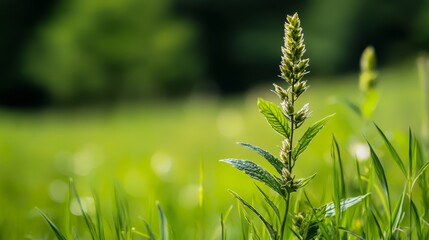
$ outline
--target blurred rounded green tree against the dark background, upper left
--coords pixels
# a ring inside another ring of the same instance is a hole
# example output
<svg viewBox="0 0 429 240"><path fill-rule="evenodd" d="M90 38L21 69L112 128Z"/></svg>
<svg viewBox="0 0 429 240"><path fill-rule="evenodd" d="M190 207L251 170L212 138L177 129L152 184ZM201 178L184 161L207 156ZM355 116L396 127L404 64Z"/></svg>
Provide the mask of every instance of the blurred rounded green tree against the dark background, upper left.
<svg viewBox="0 0 429 240"><path fill-rule="evenodd" d="M62 103L180 94L201 66L193 27L170 4L63 1L29 46L26 72Z"/></svg>

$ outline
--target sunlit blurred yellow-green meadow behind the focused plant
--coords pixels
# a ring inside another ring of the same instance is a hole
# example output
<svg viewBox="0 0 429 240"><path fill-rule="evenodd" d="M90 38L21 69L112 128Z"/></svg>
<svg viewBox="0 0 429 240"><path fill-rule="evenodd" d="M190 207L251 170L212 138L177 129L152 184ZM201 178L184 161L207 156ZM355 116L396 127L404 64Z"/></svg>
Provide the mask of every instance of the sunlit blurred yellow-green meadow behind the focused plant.
<svg viewBox="0 0 429 240"><path fill-rule="evenodd" d="M413 62L382 69L379 80L382 97L373 120L394 144L406 145L408 128L418 134L421 125L417 69ZM307 191L315 203L322 204L331 201L332 134L340 143L350 173L354 172L354 158L349 148L363 143L363 135L376 146L381 140L371 124L338 102L342 98L359 100L357 76L314 79L310 75L309 84L304 96L313 111L309 122L336 113L303 156L305 162L296 167L297 174L303 176L317 172ZM269 88L271 82L262 90L230 99L192 96L101 109L1 110L0 239L53 238L35 207L64 227L71 177L90 213L94 211L92 192L97 192L106 219L113 219L113 190L117 186L139 231L145 231L142 218L157 228L155 202L159 201L175 239L220 239L220 214L230 206L233 210L226 228L231 239L240 236L236 201L227 189L252 199L255 186L218 160L258 159L236 145L237 141L278 153L281 138L256 107L257 97L275 99ZM260 163L264 165L262 160ZM395 184L399 188L396 191L401 191L401 179L393 177L398 170L385 164L393 191ZM353 181L353 174L349 176ZM73 206L76 204L72 202L72 214L79 215ZM86 239L82 217L74 217L73 224ZM113 220L106 220L106 225L113 229Z"/></svg>

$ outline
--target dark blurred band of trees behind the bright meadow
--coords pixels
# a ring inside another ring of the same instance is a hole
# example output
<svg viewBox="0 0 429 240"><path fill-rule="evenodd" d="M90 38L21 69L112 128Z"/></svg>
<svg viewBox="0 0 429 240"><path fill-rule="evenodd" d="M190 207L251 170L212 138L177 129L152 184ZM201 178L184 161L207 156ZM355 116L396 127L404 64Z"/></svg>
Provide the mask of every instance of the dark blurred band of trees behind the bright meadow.
<svg viewBox="0 0 429 240"><path fill-rule="evenodd" d="M278 75L296 11L314 75L357 71L368 45L385 66L429 44L423 0L2 1L0 11L7 106L242 92Z"/></svg>

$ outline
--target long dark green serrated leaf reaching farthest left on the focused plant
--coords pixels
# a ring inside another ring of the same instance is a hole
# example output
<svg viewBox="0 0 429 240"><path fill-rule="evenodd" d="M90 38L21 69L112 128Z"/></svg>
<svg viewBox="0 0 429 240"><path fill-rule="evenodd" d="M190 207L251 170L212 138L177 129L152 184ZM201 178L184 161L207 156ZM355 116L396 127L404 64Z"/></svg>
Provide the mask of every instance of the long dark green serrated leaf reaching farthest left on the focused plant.
<svg viewBox="0 0 429 240"><path fill-rule="evenodd" d="M258 164L249 160L239 159L224 159L221 161L231 164L238 170L244 171L251 178L265 183L268 187L276 191L278 194L284 196L284 191L282 190L282 187L277 181L277 179Z"/></svg>

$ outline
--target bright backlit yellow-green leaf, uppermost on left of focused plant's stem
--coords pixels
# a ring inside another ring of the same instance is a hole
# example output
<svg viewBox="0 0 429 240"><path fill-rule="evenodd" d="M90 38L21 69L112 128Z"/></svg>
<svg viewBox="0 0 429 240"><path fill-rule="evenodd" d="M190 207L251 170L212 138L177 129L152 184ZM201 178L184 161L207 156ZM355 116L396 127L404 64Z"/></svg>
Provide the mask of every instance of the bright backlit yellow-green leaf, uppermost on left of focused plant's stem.
<svg viewBox="0 0 429 240"><path fill-rule="evenodd" d="M290 129L288 120L284 115L282 109L270 101L258 98L258 108L271 127L285 138L289 138Z"/></svg>

